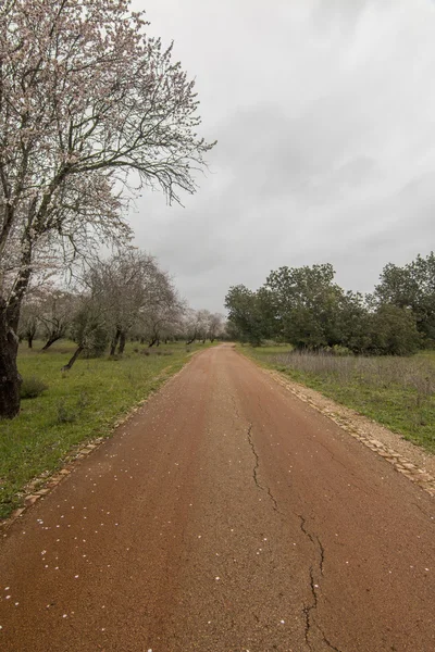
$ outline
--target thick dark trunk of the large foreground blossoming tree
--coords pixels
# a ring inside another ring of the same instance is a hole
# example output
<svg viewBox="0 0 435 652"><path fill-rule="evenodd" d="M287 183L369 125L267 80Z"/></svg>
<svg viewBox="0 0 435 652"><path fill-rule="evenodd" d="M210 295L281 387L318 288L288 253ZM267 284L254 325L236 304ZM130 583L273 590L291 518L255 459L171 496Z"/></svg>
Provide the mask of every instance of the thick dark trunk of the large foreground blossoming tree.
<svg viewBox="0 0 435 652"><path fill-rule="evenodd" d="M18 338L8 323L7 312L7 303L0 299L0 418L18 414L22 383L16 367Z"/></svg>

